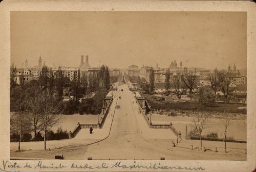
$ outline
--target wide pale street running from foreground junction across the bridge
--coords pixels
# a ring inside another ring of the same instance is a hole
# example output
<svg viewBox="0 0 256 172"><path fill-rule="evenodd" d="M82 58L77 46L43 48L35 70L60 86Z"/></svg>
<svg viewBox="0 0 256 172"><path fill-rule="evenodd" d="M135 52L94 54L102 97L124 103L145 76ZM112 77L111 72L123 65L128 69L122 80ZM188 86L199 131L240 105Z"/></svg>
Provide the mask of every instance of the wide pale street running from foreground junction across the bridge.
<svg viewBox="0 0 256 172"><path fill-rule="evenodd" d="M123 89L123 91L121 91ZM119 99L119 96L121 99ZM117 103L116 103L117 102ZM133 103L134 102L134 103ZM120 108L117 108L117 106ZM134 94L128 89L126 84L121 84L115 95L111 110L108 114L105 126L111 126L110 132L104 133L104 140L97 138L91 142L99 141L94 144L82 144L81 139L76 140L79 144L63 146L51 151L25 151L20 153L11 153L11 157L24 158L45 158L53 159L54 155L62 155L65 159L86 160L88 157L99 159L144 159L160 160L165 157L166 160L241 160L246 159L246 155L218 154L213 152L190 151L189 149L172 147L172 141L176 141L176 136L169 129L150 129L142 114L139 113L138 105L135 103ZM112 121L113 118L113 121ZM110 124L112 122L112 125ZM109 123L109 124L108 124ZM95 129L95 135L99 130ZM84 130L84 131L83 131ZM88 129L82 129L79 137L88 135ZM93 135L90 135L93 137ZM108 136L109 134L109 136ZM65 140L62 140L65 141ZM68 141L68 140L66 140Z"/></svg>

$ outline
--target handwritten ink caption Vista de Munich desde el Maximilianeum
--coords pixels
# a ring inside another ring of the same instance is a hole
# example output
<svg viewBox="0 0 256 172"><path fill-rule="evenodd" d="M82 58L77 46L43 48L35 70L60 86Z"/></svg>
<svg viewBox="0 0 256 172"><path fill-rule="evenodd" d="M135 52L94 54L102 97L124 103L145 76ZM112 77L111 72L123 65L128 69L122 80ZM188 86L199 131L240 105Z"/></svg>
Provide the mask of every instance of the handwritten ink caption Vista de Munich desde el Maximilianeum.
<svg viewBox="0 0 256 172"><path fill-rule="evenodd" d="M140 165L134 161L133 164L127 164L122 161L117 161L115 163L100 163L97 165L90 165L88 163L84 164L76 164L71 163L70 165L65 165L63 163L44 163L43 161L38 161L36 165L32 165L29 162L26 162L25 165L19 164L18 162L13 161L3 161L4 169L19 169L19 168L28 168L28 169L65 169L65 168L73 168L75 169L113 169L113 168L122 168L122 169L152 169L152 170L163 170L163 169L175 169L175 170L191 170L191 171L198 171L198 170L205 170L203 167L188 167L188 166L168 166L162 165L160 163L148 163Z"/></svg>

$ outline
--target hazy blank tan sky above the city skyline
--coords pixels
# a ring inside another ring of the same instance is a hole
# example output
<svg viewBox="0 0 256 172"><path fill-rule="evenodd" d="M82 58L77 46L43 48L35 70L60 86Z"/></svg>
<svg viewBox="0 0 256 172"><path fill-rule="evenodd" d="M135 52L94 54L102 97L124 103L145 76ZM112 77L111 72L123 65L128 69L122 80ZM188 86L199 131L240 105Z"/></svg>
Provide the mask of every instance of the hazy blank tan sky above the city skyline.
<svg viewBox="0 0 256 172"><path fill-rule="evenodd" d="M11 62L246 67L245 12L11 12Z"/></svg>

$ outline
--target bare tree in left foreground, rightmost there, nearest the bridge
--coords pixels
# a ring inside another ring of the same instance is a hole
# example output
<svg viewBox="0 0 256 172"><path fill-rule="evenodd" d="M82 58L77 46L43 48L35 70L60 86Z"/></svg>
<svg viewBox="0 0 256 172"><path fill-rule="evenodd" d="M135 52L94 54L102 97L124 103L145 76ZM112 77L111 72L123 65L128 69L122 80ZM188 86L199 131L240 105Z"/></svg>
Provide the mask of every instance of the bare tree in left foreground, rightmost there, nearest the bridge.
<svg viewBox="0 0 256 172"><path fill-rule="evenodd" d="M40 119L42 127L44 128L44 142L46 150L47 132L60 122L61 115L57 114L58 110L54 106L53 100L50 97L41 95L40 99L42 99Z"/></svg>

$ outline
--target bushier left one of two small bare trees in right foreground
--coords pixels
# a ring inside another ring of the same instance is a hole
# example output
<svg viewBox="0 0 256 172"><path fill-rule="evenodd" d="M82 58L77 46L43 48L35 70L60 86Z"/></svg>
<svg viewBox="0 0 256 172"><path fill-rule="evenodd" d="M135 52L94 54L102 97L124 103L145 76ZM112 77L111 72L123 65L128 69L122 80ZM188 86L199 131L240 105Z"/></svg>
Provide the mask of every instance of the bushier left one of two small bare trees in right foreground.
<svg viewBox="0 0 256 172"><path fill-rule="evenodd" d="M205 129L205 123L207 122L208 118L209 118L209 116L206 113L197 113L196 118L194 118L194 121L193 121L194 130L197 132L197 134L200 137L201 150L203 150L202 132Z"/></svg>

